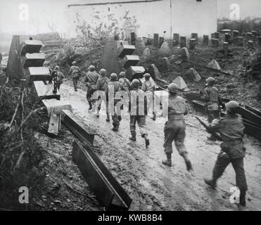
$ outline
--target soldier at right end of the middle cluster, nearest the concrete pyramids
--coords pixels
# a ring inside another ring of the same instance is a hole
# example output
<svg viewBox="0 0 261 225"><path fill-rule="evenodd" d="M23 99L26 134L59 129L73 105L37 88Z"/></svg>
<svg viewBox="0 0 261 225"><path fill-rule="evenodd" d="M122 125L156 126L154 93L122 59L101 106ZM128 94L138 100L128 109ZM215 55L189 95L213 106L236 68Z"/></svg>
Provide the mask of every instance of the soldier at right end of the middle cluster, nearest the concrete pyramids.
<svg viewBox="0 0 261 225"><path fill-rule="evenodd" d="M153 113L153 120L156 120L156 114L154 112L154 91L155 91L155 82L152 82L151 75L146 73L144 75L145 82L141 86L141 90L145 92L147 98L152 103L152 113Z"/></svg>

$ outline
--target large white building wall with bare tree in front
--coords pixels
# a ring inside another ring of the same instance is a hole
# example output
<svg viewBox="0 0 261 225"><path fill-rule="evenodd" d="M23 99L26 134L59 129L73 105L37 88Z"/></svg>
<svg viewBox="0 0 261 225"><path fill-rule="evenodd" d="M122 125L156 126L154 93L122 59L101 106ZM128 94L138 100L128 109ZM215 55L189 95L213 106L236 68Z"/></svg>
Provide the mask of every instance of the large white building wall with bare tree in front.
<svg viewBox="0 0 261 225"><path fill-rule="evenodd" d="M190 35L191 32L210 34L217 30L216 3L217 0L159 0L68 6L68 34L76 37L79 23L85 23L94 30L105 27L110 30L111 37L115 31L123 32L125 37L133 31L141 37L159 33L166 38L171 38L173 32L182 35Z"/></svg>

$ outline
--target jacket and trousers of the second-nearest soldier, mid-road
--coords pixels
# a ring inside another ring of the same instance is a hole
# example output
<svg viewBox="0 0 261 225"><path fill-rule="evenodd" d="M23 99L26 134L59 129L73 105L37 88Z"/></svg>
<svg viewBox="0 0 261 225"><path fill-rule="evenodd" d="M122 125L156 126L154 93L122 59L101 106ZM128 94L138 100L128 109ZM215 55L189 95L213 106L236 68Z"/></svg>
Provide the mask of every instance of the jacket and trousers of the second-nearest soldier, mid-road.
<svg viewBox="0 0 261 225"><path fill-rule="evenodd" d="M186 101L184 98L178 95L170 95L168 100L168 121L164 127L165 141L163 147L166 155L172 154L173 141L179 155L183 156L187 153L186 146L184 146L186 136L184 114L186 113Z"/></svg>

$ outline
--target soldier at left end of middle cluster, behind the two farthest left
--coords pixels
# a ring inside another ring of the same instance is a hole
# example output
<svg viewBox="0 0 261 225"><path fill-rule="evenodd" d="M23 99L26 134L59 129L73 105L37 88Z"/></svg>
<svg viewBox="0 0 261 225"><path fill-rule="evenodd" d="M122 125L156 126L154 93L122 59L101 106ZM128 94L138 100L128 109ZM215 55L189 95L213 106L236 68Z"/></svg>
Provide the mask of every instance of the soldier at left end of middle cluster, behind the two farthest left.
<svg viewBox="0 0 261 225"><path fill-rule="evenodd" d="M96 105L95 105L96 100L91 99L91 97L92 97L92 94L94 94L94 92L96 91L96 84L97 84L99 77L100 76L95 71L94 65L90 65L89 71L87 72L87 75L85 76L84 81L87 83L86 84L86 86L87 86L86 97L87 97L87 101L89 103L89 110L91 110L93 108L93 111L96 110ZM94 106L93 106L93 104L94 104Z"/></svg>

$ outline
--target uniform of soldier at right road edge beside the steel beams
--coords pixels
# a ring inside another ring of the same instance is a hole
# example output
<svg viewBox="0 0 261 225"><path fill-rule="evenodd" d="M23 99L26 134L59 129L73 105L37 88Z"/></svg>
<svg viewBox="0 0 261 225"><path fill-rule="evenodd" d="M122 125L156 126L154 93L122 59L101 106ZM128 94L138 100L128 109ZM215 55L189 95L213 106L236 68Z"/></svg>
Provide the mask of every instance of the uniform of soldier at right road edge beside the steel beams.
<svg viewBox="0 0 261 225"><path fill-rule="evenodd" d="M203 101L208 113L208 123L219 117L219 92L215 86L208 86L203 91Z"/></svg>

